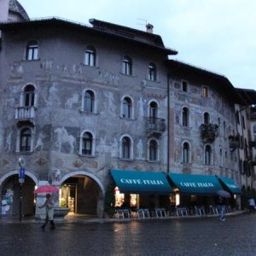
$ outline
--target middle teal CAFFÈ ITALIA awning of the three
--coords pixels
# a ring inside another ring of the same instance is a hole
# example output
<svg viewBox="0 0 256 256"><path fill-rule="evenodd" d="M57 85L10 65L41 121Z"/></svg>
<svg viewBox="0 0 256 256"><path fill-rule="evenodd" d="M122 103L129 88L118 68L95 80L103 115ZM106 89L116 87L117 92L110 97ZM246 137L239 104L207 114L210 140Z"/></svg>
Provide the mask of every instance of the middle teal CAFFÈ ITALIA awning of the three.
<svg viewBox="0 0 256 256"><path fill-rule="evenodd" d="M189 195L217 195L223 189L213 175L170 173L171 183L180 193Z"/></svg>

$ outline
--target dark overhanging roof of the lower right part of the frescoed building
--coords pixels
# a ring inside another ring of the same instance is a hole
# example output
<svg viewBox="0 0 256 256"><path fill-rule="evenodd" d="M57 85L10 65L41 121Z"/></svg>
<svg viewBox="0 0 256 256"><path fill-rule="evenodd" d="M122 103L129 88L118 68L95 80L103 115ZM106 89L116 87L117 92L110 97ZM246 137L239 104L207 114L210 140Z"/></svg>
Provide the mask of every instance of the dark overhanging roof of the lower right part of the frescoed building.
<svg viewBox="0 0 256 256"><path fill-rule="evenodd" d="M177 75L183 79L193 80L201 85L207 85L217 90L221 95L226 96L230 102L244 103L236 88L224 75L213 73L201 67L195 67L182 61L167 60L169 76Z"/></svg>

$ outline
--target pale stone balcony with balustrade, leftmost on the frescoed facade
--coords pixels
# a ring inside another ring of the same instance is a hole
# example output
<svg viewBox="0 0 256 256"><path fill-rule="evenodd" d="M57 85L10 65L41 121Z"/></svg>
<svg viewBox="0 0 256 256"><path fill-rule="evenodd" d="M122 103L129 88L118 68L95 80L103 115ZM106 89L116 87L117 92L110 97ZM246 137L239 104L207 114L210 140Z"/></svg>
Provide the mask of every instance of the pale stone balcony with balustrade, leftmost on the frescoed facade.
<svg viewBox="0 0 256 256"><path fill-rule="evenodd" d="M18 125L35 125L36 109L33 106L15 108L16 123Z"/></svg>

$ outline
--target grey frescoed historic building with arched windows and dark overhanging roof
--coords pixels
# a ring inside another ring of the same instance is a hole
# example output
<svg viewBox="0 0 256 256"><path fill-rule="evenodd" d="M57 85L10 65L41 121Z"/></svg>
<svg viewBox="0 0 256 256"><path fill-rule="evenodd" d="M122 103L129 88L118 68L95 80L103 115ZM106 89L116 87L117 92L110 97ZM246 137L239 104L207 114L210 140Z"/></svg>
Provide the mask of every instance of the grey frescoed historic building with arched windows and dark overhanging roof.
<svg viewBox="0 0 256 256"><path fill-rule="evenodd" d="M228 79L168 60L177 51L149 24L141 32L95 19L29 20L17 1L5 14L0 193L13 203L3 214L18 211L20 157L25 215L35 211L35 186L54 183L73 212L102 216L111 169L220 175L241 185L229 143L241 98Z"/></svg>

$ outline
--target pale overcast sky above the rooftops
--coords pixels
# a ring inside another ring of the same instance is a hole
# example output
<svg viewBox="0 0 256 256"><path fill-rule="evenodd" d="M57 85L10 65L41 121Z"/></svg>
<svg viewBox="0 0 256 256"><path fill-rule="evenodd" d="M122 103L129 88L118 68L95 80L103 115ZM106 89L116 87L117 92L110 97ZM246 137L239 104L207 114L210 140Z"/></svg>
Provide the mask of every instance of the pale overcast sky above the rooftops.
<svg viewBox="0 0 256 256"><path fill-rule="evenodd" d="M30 18L90 18L145 30L154 26L172 59L223 74L238 88L256 90L254 0L19 0Z"/></svg>

